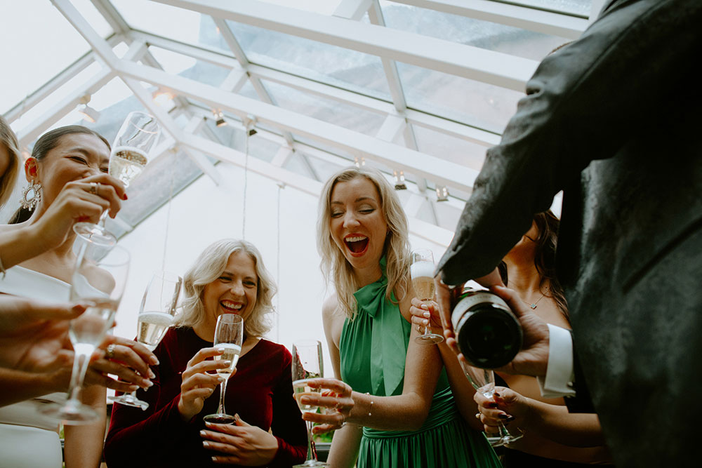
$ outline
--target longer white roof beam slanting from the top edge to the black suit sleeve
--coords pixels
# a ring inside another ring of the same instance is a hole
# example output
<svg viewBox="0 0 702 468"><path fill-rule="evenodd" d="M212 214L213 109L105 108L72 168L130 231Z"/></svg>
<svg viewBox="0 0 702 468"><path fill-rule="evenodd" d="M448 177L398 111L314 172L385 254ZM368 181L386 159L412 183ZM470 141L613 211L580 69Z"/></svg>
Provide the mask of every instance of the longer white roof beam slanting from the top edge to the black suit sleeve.
<svg viewBox="0 0 702 468"><path fill-rule="evenodd" d="M506 53L256 0L152 0L397 60L484 83L524 91L538 62Z"/></svg>

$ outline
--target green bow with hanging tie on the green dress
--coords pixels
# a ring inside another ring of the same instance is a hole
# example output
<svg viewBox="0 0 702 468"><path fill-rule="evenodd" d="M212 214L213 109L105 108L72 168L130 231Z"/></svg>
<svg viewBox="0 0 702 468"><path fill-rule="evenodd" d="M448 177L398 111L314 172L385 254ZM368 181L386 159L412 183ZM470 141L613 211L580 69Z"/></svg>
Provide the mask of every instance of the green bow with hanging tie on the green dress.
<svg viewBox="0 0 702 468"><path fill-rule="evenodd" d="M407 354L408 333L403 330L406 321L397 304L385 297L388 278L385 276L385 257L380 260L383 276L375 283L354 293L357 307L373 319L371 330L371 394L391 396L402 393L404 360ZM395 293L391 295L396 301Z"/></svg>

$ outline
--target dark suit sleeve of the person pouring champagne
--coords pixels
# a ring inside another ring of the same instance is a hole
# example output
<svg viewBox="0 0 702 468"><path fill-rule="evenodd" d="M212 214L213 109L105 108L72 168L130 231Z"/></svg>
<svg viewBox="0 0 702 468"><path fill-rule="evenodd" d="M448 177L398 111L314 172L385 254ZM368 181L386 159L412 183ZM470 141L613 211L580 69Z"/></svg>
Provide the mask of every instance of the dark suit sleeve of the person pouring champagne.
<svg viewBox="0 0 702 468"><path fill-rule="evenodd" d="M701 12L698 0L613 1L581 39L541 62L500 145L487 152L437 267L444 282L491 272L592 159L613 156L633 129L666 118L663 94L694 71Z"/></svg>

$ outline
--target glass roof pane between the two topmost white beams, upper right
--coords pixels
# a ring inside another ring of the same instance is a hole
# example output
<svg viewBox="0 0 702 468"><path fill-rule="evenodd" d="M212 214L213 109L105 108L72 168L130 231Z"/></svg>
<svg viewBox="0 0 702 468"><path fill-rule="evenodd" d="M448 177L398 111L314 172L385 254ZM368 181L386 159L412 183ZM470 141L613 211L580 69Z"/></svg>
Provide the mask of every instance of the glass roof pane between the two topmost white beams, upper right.
<svg viewBox="0 0 702 468"><path fill-rule="evenodd" d="M393 29L402 29L531 60L541 61L554 48L569 41L559 36L416 6L392 4L386 1L383 5L385 25Z"/></svg>

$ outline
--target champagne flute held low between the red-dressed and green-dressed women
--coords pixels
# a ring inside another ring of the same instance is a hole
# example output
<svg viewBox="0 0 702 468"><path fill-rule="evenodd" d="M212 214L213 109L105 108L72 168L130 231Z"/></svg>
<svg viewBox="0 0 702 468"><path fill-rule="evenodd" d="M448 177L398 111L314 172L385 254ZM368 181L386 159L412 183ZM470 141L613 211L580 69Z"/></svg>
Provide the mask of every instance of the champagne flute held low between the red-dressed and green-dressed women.
<svg viewBox="0 0 702 468"><path fill-rule="evenodd" d="M313 389L307 385L307 381L324 374L324 363L322 362L322 343L316 340L303 340L293 343L293 392L298 401L300 411L303 413L314 413L317 406L305 405L300 402L300 398L310 394L320 394L322 389ZM317 460L317 448L312 439L312 422L307 423L307 460L303 464L296 464L295 467L326 467L326 463Z"/></svg>

